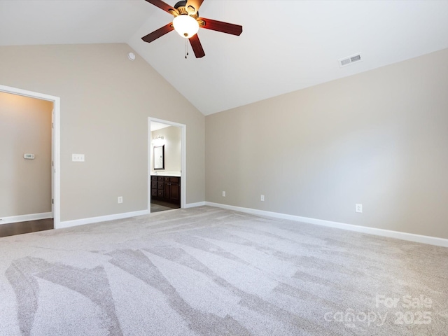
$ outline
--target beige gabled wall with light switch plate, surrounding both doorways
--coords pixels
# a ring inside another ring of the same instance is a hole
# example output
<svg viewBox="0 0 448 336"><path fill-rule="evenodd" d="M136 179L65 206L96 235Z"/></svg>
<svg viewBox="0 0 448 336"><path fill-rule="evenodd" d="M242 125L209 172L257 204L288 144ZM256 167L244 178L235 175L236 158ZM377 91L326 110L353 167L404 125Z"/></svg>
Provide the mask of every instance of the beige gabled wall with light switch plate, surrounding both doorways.
<svg viewBox="0 0 448 336"><path fill-rule="evenodd" d="M61 99L62 221L148 208L148 117L186 125L186 202L204 201L204 116L144 59L127 59L130 51L0 47L1 85ZM71 162L72 153L85 162Z"/></svg>

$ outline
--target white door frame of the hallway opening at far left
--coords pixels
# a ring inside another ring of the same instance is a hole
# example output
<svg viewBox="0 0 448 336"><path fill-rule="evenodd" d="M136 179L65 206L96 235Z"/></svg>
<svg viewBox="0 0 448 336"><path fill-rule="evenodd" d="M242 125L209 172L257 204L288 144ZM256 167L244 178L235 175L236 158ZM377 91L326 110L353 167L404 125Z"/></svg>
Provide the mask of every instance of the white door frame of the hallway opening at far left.
<svg viewBox="0 0 448 336"><path fill-rule="evenodd" d="M41 100L48 100L53 103L53 114L52 114L52 130L51 130L51 144L52 144L52 169L51 169L51 181L52 181L52 216L54 218L53 225L54 228L59 228L61 222L61 169L60 169L60 114L61 114L61 99L59 97L50 96L48 94L43 94L39 92L27 91L18 89L17 87L10 87L5 85L0 85L0 91L10 94L18 94L20 96L31 97Z"/></svg>

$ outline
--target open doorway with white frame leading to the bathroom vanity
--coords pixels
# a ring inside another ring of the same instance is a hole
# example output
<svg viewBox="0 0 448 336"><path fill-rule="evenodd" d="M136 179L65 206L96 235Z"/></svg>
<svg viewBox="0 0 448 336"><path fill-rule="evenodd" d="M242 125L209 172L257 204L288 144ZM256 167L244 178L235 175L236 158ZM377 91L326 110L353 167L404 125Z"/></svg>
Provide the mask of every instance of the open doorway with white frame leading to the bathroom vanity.
<svg viewBox="0 0 448 336"><path fill-rule="evenodd" d="M148 210L184 207L186 125L149 118Z"/></svg>

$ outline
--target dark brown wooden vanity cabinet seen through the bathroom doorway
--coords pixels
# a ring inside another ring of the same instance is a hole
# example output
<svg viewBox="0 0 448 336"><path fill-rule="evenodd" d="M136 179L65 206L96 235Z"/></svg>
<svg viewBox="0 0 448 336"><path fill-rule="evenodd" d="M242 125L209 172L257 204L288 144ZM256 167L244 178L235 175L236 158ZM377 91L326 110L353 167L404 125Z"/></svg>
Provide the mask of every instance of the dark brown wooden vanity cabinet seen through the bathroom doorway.
<svg viewBox="0 0 448 336"><path fill-rule="evenodd" d="M151 176L151 198L181 206L181 178Z"/></svg>

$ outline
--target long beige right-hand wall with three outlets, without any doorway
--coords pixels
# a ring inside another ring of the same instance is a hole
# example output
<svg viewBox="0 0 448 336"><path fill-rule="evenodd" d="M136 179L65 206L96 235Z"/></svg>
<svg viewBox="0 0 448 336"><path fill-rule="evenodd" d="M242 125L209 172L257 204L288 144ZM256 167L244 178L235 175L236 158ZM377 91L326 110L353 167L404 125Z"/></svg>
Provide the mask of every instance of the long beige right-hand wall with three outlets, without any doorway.
<svg viewBox="0 0 448 336"><path fill-rule="evenodd" d="M448 238L447 59L207 116L206 200Z"/></svg>

